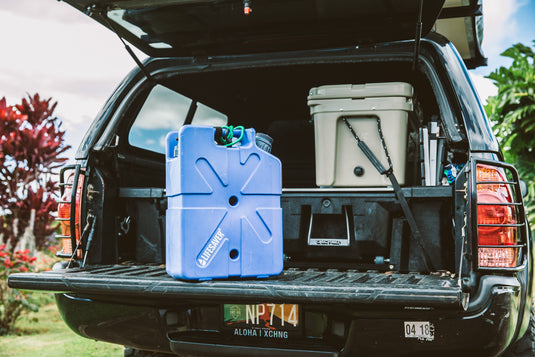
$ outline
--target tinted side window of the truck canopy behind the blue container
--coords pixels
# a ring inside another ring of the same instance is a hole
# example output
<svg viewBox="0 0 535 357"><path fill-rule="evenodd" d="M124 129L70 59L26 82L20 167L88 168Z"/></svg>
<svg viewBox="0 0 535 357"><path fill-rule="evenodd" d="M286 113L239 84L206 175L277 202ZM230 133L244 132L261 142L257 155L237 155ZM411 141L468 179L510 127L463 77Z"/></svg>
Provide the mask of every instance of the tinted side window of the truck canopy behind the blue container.
<svg viewBox="0 0 535 357"><path fill-rule="evenodd" d="M184 125L190 107L196 105L191 124L223 126L227 116L167 87L156 85L136 116L128 143L131 146L165 154L165 137Z"/></svg>

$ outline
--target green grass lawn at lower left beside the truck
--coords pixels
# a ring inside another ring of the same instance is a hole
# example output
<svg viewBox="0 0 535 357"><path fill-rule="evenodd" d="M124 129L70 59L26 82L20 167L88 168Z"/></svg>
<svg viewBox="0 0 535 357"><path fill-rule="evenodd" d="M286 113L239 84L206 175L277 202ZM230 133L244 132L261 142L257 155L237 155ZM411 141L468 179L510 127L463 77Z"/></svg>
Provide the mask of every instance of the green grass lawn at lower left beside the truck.
<svg viewBox="0 0 535 357"><path fill-rule="evenodd" d="M72 332L54 303L20 317L15 334L0 337L0 357L113 357L123 356L123 346L97 342Z"/></svg>

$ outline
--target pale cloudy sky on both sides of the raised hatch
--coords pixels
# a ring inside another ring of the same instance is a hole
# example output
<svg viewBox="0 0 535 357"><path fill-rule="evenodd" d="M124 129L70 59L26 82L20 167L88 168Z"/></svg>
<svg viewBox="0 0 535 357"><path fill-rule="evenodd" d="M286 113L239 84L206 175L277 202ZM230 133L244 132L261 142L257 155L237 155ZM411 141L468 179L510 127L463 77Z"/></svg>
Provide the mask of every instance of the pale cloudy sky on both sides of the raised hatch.
<svg viewBox="0 0 535 357"><path fill-rule="evenodd" d="M488 66L470 74L485 100L496 87L484 77L510 63L500 53L535 39L535 0L483 0L483 18ZM0 0L0 44L0 98L17 104L38 92L57 101L55 114L74 148L135 66L115 34L57 0Z"/></svg>

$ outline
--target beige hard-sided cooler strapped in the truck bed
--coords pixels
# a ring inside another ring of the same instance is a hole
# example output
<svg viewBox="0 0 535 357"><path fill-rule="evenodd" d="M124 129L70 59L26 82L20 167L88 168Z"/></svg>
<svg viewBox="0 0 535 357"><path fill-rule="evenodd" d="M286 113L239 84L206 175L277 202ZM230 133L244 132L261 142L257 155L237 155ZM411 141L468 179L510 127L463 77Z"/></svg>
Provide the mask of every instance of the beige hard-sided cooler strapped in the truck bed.
<svg viewBox="0 0 535 357"><path fill-rule="evenodd" d="M321 187L381 187L390 180L366 158L342 121L347 118L359 138L388 168L377 118L394 174L405 183L407 121L413 88L408 83L343 84L312 88L308 96L316 141L316 184ZM364 169L355 175L356 167Z"/></svg>

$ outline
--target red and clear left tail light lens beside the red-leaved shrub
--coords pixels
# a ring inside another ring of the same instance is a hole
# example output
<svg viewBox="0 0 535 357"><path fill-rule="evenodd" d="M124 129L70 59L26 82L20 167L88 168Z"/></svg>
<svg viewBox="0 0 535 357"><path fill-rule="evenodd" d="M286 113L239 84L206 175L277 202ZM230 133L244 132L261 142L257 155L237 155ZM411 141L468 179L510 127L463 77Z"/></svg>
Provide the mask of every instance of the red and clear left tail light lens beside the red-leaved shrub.
<svg viewBox="0 0 535 357"><path fill-rule="evenodd" d="M58 204L58 220L60 222L61 230L61 245L62 251L59 255L72 256L73 249L71 240L71 199L72 199L72 186L74 184L74 172L71 172L65 181L65 190L63 196ZM83 188L83 175L79 175L78 184L76 187L76 201L75 201L75 223L74 234L76 243L80 240L80 199ZM77 257L81 258L82 252L77 252Z"/></svg>

